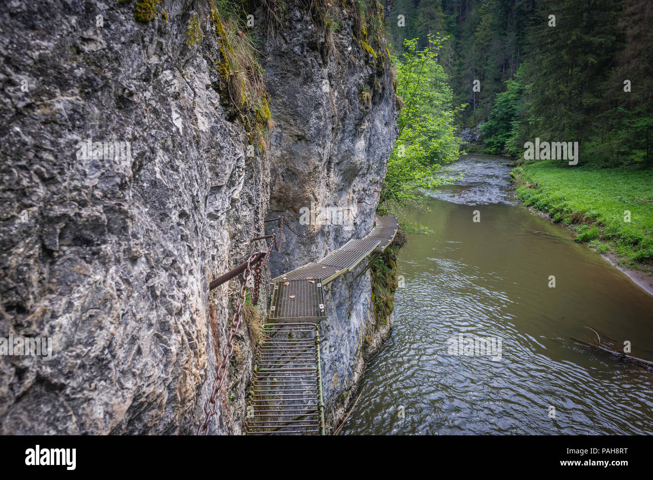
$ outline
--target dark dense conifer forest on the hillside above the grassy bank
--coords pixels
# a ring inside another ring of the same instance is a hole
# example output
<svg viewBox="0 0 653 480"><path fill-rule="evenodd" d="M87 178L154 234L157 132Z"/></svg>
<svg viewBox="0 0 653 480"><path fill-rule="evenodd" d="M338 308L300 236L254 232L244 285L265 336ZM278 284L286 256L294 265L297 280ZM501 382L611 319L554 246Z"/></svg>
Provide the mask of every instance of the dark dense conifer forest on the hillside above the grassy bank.
<svg viewBox="0 0 653 480"><path fill-rule="evenodd" d="M441 37L438 63L460 127L483 151L579 142L579 164L650 166L653 4L648 0L394 0L391 51ZM403 16L403 17L402 17ZM477 82L475 82L477 81ZM476 85L476 88L474 88Z"/></svg>

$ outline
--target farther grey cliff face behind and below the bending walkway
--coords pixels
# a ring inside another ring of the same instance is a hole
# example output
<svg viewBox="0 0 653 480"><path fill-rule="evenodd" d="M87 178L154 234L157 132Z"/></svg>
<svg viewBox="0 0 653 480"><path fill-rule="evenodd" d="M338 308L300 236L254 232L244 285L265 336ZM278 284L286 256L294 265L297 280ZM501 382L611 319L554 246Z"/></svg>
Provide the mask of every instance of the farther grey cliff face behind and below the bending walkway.
<svg viewBox="0 0 653 480"><path fill-rule="evenodd" d="M375 190L398 133L385 45L375 52L358 41L346 14L328 35L298 10L286 18L287 28L266 44L264 63L275 122L270 215L284 215L300 233L319 233L303 239L285 230L283 250L270 260L273 277L370 233ZM311 219L302 218L307 210L316 221L302 225ZM370 273L358 277L365 265L327 286L320 338L330 430L342 419L366 357L392 328L392 318L376 324Z"/></svg>

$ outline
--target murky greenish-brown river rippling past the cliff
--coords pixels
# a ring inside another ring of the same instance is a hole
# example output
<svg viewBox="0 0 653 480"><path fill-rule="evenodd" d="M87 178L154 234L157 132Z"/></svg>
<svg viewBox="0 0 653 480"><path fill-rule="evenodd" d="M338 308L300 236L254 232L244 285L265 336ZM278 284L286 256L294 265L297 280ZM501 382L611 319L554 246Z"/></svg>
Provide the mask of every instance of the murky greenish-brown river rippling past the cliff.
<svg viewBox="0 0 653 480"><path fill-rule="evenodd" d="M518 205L507 161L462 157L407 218L433 233L400 252L394 331L343 434L653 433L653 376L569 338L591 326L653 360L653 297Z"/></svg>

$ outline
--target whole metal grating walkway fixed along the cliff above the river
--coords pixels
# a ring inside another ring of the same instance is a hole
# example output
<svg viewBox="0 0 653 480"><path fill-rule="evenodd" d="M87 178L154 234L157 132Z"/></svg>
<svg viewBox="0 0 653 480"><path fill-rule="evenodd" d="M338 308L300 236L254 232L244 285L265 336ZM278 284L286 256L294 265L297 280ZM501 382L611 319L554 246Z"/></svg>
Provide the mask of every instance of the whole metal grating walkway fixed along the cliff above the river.
<svg viewBox="0 0 653 480"><path fill-rule="evenodd" d="M324 286L383 252L397 233L396 217L375 217L370 235L322 260L273 278L263 343L255 358L245 433L325 434L318 325L327 318Z"/></svg>

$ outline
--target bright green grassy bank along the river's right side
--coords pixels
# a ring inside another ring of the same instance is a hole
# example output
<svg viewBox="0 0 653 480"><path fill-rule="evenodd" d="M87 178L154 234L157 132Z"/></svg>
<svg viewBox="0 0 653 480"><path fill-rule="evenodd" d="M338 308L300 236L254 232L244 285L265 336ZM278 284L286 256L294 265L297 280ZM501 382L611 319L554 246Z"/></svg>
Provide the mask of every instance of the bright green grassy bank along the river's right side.
<svg viewBox="0 0 653 480"><path fill-rule="evenodd" d="M596 169L545 161L519 166L511 175L524 205L549 213L597 252L653 275L653 168Z"/></svg>

